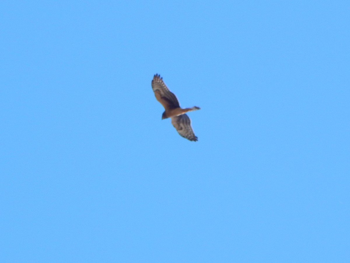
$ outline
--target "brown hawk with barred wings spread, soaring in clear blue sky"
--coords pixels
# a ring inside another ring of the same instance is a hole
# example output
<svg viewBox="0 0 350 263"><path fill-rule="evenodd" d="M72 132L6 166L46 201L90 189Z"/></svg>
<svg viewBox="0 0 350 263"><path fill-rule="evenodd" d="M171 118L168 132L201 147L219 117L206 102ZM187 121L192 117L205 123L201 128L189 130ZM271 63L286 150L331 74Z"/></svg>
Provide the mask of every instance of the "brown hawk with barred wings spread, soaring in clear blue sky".
<svg viewBox="0 0 350 263"><path fill-rule="evenodd" d="M182 109L174 93L168 89L163 82L163 78L158 74L155 74L153 77L152 89L156 99L165 108L165 112L163 112L162 115L162 120L171 118L173 126L182 137L190 141L198 141L198 138L195 136L191 127L191 120L185 113L201 108L194 106L192 108Z"/></svg>

